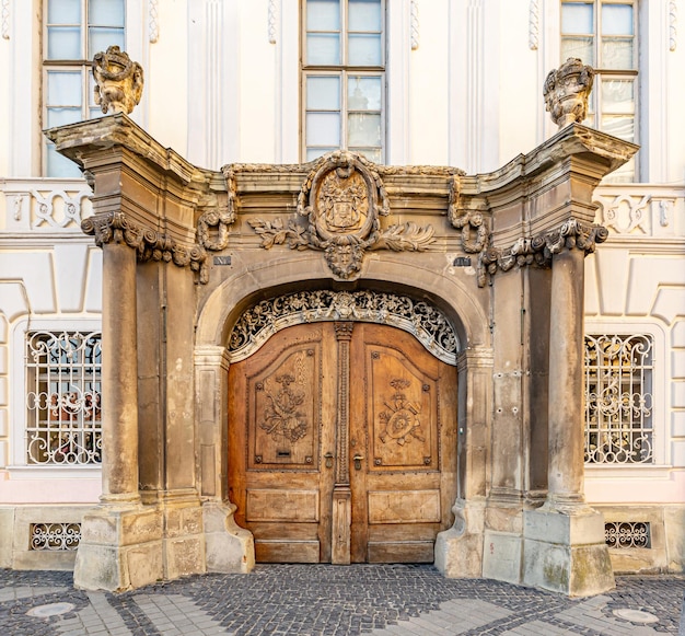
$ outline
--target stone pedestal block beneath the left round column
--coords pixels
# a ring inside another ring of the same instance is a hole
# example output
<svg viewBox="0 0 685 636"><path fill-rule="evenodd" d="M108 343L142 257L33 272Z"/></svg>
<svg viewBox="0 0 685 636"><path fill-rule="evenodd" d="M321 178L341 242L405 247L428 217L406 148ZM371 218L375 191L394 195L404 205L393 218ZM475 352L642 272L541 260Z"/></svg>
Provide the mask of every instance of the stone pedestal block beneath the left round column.
<svg viewBox="0 0 685 636"><path fill-rule="evenodd" d="M141 505L101 506L83 517L74 587L119 592L164 576L162 512Z"/></svg>

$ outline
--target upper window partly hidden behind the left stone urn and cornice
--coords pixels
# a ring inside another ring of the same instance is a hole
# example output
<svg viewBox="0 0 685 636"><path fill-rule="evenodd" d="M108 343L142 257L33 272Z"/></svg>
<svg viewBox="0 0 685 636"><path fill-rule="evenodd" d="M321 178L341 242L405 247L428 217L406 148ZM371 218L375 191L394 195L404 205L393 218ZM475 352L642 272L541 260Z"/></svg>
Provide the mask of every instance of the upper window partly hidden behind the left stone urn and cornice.
<svg viewBox="0 0 685 636"><path fill-rule="evenodd" d="M96 53L124 49L125 0L45 0L43 49L44 127L102 115L94 101L91 62ZM46 142L47 176L80 176L74 163Z"/></svg>

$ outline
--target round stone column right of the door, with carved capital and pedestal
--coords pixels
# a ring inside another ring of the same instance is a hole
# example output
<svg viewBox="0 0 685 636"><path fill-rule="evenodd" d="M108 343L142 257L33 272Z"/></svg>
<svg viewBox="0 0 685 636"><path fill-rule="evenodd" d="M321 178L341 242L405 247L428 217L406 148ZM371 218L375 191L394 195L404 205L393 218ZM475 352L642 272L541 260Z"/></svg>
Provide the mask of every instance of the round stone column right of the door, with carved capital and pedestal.
<svg viewBox="0 0 685 636"><path fill-rule="evenodd" d="M560 239L560 240L559 240ZM553 236L548 493L524 512L523 582L584 597L614 587L604 518L583 496L583 247L573 220ZM556 253L555 253L556 252Z"/></svg>

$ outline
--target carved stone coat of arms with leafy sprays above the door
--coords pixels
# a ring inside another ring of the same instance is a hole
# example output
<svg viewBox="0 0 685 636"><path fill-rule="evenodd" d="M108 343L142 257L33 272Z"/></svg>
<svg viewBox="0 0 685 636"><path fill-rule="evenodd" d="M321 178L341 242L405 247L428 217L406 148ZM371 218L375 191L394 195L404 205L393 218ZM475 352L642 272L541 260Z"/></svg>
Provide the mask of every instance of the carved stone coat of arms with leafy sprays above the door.
<svg viewBox="0 0 685 636"><path fill-rule="evenodd" d="M287 244L291 250L321 250L330 270L342 279L361 269L367 250L421 252L433 242L431 226L390 226L381 230L380 217L390 213L383 182L374 165L359 154L337 150L322 157L298 196L297 220L248 221L262 236L262 246Z"/></svg>

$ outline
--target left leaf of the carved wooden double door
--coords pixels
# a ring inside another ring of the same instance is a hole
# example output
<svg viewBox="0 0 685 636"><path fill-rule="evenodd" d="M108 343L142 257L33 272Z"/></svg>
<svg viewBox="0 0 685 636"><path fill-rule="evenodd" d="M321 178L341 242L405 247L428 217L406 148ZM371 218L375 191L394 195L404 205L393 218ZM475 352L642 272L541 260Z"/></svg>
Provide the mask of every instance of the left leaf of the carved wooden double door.
<svg viewBox="0 0 685 636"><path fill-rule="evenodd" d="M229 370L229 496L259 562L330 560L330 348L329 324L299 325Z"/></svg>

